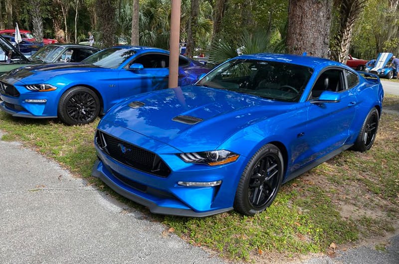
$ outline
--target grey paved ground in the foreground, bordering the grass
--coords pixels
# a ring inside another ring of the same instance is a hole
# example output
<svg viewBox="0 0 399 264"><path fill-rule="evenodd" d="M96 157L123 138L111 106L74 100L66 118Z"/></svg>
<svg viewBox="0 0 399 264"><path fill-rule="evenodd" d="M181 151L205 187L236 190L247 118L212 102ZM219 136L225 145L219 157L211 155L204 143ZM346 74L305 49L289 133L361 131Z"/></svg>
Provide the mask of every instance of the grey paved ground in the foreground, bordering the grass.
<svg viewBox="0 0 399 264"><path fill-rule="evenodd" d="M55 162L0 140L1 264L226 263L166 230ZM384 253L360 247L302 263L399 264L399 236Z"/></svg>

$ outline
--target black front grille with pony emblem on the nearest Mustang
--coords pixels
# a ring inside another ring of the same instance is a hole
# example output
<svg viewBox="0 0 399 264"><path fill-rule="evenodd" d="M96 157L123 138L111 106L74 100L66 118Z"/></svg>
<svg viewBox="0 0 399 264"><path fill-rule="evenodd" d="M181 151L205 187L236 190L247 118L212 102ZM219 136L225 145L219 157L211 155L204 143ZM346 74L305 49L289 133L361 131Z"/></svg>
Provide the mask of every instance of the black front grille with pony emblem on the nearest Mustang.
<svg viewBox="0 0 399 264"><path fill-rule="evenodd" d="M168 177L171 173L165 162L155 153L114 138L101 131L96 133L96 144L113 159L134 169Z"/></svg>

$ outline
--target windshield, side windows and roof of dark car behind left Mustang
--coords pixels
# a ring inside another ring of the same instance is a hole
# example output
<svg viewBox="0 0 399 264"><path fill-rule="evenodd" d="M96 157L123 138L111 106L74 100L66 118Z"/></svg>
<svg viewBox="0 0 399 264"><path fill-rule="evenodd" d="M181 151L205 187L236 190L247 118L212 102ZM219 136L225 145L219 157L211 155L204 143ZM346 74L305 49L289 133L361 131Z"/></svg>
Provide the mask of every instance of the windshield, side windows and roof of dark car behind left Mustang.
<svg viewBox="0 0 399 264"><path fill-rule="evenodd" d="M100 49L79 44L48 44L30 56L31 61L42 62L80 62Z"/></svg>

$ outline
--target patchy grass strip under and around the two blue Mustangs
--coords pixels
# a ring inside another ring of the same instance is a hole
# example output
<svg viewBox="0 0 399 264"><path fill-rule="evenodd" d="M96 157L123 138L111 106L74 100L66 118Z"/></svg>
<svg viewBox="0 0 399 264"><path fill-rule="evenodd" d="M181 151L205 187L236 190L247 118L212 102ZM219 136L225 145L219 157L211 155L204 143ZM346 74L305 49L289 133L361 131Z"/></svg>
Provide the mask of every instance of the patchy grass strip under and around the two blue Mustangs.
<svg viewBox="0 0 399 264"><path fill-rule="evenodd" d="M399 97L386 96L384 107L395 105ZM383 114L370 151L345 151L283 185L273 205L255 217L235 212L206 218L156 216L115 194L90 175L97 122L65 126L58 120L11 118L0 112L2 140L22 142L166 224L163 235L173 231L224 258L255 262L309 252L333 254L331 245L344 249L364 242L384 250L384 237L399 230L399 114Z"/></svg>

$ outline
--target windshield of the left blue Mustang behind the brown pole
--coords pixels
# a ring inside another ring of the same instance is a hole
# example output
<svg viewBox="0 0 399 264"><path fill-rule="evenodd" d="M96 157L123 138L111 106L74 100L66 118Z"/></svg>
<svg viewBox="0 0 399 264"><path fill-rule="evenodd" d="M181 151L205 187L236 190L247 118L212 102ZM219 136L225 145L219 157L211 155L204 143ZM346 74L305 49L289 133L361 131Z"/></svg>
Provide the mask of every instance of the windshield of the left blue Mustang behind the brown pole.
<svg viewBox="0 0 399 264"><path fill-rule="evenodd" d="M136 51L130 48L107 48L82 60L82 63L94 64L103 68L116 69L135 53Z"/></svg>

